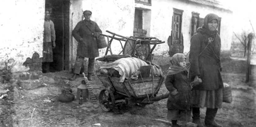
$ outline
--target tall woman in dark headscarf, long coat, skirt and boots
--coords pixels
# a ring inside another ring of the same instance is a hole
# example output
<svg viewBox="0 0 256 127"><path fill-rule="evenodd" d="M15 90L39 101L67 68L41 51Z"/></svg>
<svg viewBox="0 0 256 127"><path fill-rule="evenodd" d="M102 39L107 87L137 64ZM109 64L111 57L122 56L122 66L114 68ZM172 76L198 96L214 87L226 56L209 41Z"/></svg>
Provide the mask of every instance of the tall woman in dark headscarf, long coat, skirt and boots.
<svg viewBox="0 0 256 127"><path fill-rule="evenodd" d="M202 79L202 83L192 90L193 123L204 127L200 121L200 108L206 107L204 123L208 127L222 127L215 121L218 108L222 107L223 81L220 72L221 41L218 31L219 17L208 14L204 24L191 38L189 62L191 64L189 79Z"/></svg>

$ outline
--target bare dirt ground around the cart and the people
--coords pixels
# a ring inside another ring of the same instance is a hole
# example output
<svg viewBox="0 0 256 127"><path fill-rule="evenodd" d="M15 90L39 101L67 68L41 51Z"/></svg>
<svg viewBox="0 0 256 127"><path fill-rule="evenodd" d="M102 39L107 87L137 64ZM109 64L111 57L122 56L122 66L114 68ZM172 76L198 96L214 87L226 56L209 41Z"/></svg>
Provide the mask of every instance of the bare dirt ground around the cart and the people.
<svg viewBox="0 0 256 127"><path fill-rule="evenodd" d="M246 61L226 58L222 62L223 80L232 87L233 102L223 103L219 109L216 121L224 127L255 127L256 125L256 92L255 82L245 82ZM161 66L164 75L169 65ZM72 75L67 71L46 73L53 83L44 83L42 87L24 90L21 87L11 87L1 84L2 89L9 89L8 97L0 99L1 127L168 127L170 125L153 119L166 119L167 99L157 101L145 107L134 105L118 105L111 112L103 112L94 108L93 104L78 100L63 103L56 101L63 86L70 86L76 95L77 86L82 81L82 75L75 81L68 81ZM96 96L104 89L97 76L90 82ZM166 93L163 84L158 95ZM81 108L76 108L83 106ZM205 108L201 109L202 122ZM178 122L184 124L183 122ZM96 125L95 125L96 124Z"/></svg>

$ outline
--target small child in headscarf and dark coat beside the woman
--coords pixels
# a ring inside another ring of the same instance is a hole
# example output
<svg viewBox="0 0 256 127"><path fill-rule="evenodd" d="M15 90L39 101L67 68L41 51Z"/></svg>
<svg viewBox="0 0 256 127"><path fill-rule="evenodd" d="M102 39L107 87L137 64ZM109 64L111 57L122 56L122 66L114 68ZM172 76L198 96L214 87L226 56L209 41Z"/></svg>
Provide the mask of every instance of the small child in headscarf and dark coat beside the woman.
<svg viewBox="0 0 256 127"><path fill-rule="evenodd" d="M165 80L165 86L170 92L167 100L167 118L171 120L172 127L178 127L178 120L190 122L191 87L186 68L186 56L182 53L174 54L170 62L171 66Z"/></svg>

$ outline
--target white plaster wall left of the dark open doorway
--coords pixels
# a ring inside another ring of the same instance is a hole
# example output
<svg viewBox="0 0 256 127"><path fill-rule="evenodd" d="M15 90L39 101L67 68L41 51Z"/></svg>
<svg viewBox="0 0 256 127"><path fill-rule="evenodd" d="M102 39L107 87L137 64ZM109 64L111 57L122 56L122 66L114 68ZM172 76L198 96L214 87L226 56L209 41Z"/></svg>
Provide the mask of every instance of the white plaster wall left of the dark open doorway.
<svg viewBox="0 0 256 127"><path fill-rule="evenodd" d="M18 64L37 52L42 57L44 0L6 0L0 4L0 68L13 58Z"/></svg>

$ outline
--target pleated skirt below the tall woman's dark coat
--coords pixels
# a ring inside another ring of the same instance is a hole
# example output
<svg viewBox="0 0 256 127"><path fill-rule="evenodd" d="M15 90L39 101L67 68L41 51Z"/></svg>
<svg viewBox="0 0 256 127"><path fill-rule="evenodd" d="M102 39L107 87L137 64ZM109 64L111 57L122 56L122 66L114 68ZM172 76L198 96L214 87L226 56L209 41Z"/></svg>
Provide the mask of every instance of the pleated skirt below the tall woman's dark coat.
<svg viewBox="0 0 256 127"><path fill-rule="evenodd" d="M222 90L192 90L192 107L222 108Z"/></svg>

